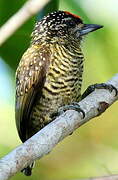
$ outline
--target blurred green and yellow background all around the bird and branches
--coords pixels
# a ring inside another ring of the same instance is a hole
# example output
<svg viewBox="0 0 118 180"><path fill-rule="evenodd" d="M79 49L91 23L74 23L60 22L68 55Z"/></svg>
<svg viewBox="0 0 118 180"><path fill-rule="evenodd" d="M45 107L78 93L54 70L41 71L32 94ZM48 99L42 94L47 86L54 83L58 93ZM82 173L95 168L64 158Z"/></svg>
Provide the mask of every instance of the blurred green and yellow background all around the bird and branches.
<svg viewBox="0 0 118 180"><path fill-rule="evenodd" d="M105 0L99 2L97 0L59 1L59 9L80 15L85 23L104 25L103 29L91 33L85 42L83 42L83 51L85 54L83 89L89 84L108 80L118 71L118 24L114 19L114 15L112 15L114 13L114 7L117 5L115 4L116 1L113 0L115 3L112 3L113 7L110 7L111 10L113 9L113 13L109 13L110 1L112 0L107 1L107 5L105 4L105 6L102 4ZM24 2L25 0L12 0L8 5L7 1L1 0L0 25L17 12ZM57 9L57 2L52 0L52 4L49 4L38 16L28 20L0 48L0 55L4 60L4 66L3 61L0 63L1 157L21 143L17 135L14 120L13 97L15 83L13 72L22 53L29 45L30 33L32 32L35 19L41 18L43 14ZM118 12L116 15L118 16ZM115 17L117 19L116 15ZM102 18L100 19L100 17ZM109 19L111 20L110 23ZM5 71L2 71L2 69L5 69ZM3 83L6 83L7 86L4 87L2 85ZM1 92L5 94L6 98ZM11 95L11 98L9 98L8 94ZM118 104L116 103L102 116L88 122L73 133L73 135L59 143L48 156L37 161L31 177L27 178L23 174L18 173L11 179L78 179L118 173L117 109Z"/></svg>

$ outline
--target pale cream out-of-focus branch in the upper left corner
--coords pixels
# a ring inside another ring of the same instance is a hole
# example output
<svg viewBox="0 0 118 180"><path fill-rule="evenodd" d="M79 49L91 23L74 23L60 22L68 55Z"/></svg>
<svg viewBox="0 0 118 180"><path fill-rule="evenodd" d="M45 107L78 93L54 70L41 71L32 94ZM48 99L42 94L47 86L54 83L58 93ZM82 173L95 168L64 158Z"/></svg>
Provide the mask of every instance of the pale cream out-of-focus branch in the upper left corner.
<svg viewBox="0 0 118 180"><path fill-rule="evenodd" d="M0 28L0 46L31 16L41 10L49 0L28 0L24 6Z"/></svg>

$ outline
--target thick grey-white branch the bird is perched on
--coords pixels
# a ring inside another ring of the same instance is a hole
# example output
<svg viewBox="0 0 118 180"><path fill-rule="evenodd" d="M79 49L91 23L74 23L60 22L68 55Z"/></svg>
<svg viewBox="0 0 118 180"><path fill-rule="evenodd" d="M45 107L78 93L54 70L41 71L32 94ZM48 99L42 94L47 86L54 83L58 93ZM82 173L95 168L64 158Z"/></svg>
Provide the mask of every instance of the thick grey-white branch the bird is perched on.
<svg viewBox="0 0 118 180"><path fill-rule="evenodd" d="M118 89L118 74L107 83ZM8 179L32 161L48 154L61 140L90 119L100 115L117 99L118 96L115 96L114 91L110 93L105 89L95 90L79 102L81 109L85 112L84 119L81 113L68 110L3 157L0 160L0 180Z"/></svg>

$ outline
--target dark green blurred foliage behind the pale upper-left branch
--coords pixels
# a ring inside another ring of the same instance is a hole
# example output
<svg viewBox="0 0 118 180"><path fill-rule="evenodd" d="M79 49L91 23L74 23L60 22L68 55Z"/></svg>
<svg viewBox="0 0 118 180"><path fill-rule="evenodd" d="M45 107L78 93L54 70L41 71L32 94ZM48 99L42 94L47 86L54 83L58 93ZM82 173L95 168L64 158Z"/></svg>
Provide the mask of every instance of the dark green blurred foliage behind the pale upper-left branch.
<svg viewBox="0 0 118 180"><path fill-rule="evenodd" d="M4 24L14 13L16 13L26 0L12 0L7 5L7 1L0 1L0 26ZM51 0L36 17L30 18L22 27L20 27L0 48L0 55L6 63L15 70L23 52L28 48L30 42L30 34L33 30L36 19L44 14L51 12L58 7L58 0Z"/></svg>

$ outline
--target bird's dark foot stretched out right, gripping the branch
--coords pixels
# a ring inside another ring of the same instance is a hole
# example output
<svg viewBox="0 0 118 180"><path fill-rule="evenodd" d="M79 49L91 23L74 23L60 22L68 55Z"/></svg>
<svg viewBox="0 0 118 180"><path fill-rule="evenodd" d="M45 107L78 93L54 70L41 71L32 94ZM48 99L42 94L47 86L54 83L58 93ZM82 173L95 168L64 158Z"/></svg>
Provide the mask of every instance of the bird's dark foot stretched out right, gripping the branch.
<svg viewBox="0 0 118 180"><path fill-rule="evenodd" d="M94 85L90 85L86 91L82 94L81 96L81 100L84 99L86 96L88 96L89 94L91 94L95 89L107 89L110 92L112 92L113 90L115 91L115 96L117 96L118 91L117 89L111 85L111 84L105 84L105 83L101 83L101 84L94 84Z"/></svg>

